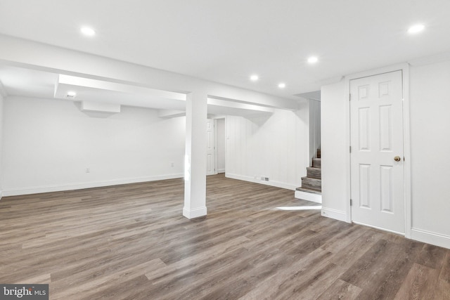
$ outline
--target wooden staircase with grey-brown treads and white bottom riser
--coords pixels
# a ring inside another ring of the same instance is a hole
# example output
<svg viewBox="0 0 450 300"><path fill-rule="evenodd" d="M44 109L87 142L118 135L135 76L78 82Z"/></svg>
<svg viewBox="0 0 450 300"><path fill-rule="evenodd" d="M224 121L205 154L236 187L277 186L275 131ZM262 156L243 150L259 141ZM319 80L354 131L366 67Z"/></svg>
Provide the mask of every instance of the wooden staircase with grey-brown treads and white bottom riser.
<svg viewBox="0 0 450 300"><path fill-rule="evenodd" d="M307 167L307 176L302 177L302 186L295 190L295 197L322 203L322 169L321 150L317 150L317 157L312 159L312 167Z"/></svg>

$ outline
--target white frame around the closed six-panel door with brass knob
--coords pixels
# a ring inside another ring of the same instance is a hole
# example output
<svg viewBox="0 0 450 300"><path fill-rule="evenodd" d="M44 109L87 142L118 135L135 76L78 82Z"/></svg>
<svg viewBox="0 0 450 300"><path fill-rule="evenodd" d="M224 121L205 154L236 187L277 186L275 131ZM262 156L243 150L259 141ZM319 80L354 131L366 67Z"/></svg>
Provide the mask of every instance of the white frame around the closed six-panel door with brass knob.
<svg viewBox="0 0 450 300"><path fill-rule="evenodd" d="M409 64L404 63L400 65L392 65L389 67L383 67L380 69L370 70L366 72L361 72L357 74L351 74L345 77L345 101L347 112L347 124L346 124L346 144L348 149L350 149L350 80L358 79L361 77L369 77L373 75L383 74L387 72L402 71L402 81L403 81L403 139L404 139L404 202L405 202L405 237L411 238L411 134L410 134L410 116L409 116ZM350 197L351 193L351 174L350 174L350 151L348 151L347 169L345 174L347 174L347 222L352 223L352 208L350 207Z"/></svg>

